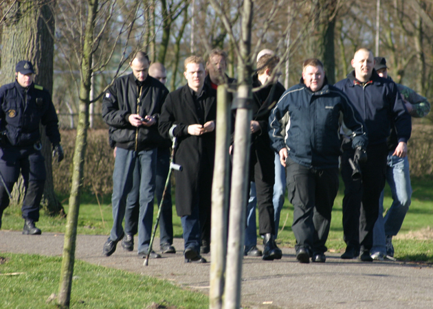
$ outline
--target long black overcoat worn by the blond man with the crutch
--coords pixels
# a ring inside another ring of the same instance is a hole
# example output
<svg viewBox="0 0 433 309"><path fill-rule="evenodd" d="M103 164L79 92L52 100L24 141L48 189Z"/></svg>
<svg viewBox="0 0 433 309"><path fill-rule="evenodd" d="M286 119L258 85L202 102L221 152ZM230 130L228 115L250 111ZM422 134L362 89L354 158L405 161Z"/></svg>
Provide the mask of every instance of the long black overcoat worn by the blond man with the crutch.
<svg viewBox="0 0 433 309"><path fill-rule="evenodd" d="M197 110L188 84L170 94L162 106L159 117L159 132L164 137L177 137L175 163L182 165L182 172L175 171L176 177L176 210L178 216L192 214L192 209L200 201L210 201L212 179L203 181L203 173L212 175L215 155L215 130L200 136L189 135L190 124L205 124L216 119L216 91L207 84L203 87L199 101L204 111ZM207 190L203 190L206 187ZM199 188L203 192L198 192ZM203 207L201 205L200 207ZM210 205L207 205L210 207Z"/></svg>

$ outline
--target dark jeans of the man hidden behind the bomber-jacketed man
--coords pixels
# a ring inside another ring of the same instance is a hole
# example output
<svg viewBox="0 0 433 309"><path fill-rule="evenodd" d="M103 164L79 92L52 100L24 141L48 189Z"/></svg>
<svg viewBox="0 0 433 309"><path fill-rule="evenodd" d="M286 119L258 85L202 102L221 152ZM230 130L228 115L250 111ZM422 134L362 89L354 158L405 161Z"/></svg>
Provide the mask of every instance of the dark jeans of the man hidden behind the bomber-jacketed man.
<svg viewBox="0 0 433 309"><path fill-rule="evenodd" d="M155 178L155 195L158 206L162 200L162 194L166 185L168 171L170 169L170 148L158 148L157 168ZM140 178L139 170L135 165L133 172L133 188L128 195L125 211L125 233L135 235L137 233L137 222L140 211ZM173 244L173 204L171 201L171 185L168 182L167 196L162 205L161 217L159 218L159 243Z"/></svg>

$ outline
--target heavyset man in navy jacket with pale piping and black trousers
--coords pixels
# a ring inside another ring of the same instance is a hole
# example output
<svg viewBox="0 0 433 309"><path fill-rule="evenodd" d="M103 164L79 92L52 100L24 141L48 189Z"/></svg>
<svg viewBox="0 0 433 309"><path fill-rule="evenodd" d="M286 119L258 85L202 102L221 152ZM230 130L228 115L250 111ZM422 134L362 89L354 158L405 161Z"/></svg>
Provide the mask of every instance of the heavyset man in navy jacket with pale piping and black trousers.
<svg viewBox="0 0 433 309"><path fill-rule="evenodd" d="M325 262L331 211L338 191L340 128L357 155L367 137L359 113L342 91L328 84L322 62L304 61L300 83L285 91L269 116L269 137L287 168L293 204L296 258Z"/></svg>

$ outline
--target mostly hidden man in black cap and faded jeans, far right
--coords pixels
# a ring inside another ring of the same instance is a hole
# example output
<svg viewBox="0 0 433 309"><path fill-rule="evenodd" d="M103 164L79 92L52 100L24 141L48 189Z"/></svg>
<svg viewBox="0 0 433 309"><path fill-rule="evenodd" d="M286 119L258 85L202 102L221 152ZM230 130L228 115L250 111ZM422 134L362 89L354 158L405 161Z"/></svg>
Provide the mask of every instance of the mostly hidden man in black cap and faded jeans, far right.
<svg viewBox="0 0 433 309"><path fill-rule="evenodd" d="M381 78L388 78L388 67L384 57L375 57L375 70ZM395 83L397 84L397 82ZM409 87L397 84L408 112L412 117L421 118L430 112L430 103L426 98L419 95ZM388 160L386 165L386 181L392 192L392 205L386 211L384 218L384 192L382 191L379 201L379 217L373 229L373 248L371 257L373 260L384 260L385 256L394 256L392 236L396 236L401 229L404 217L410 206L412 187L410 185L409 160L408 157L397 157L392 155L397 146L397 135L392 128L388 138Z"/></svg>

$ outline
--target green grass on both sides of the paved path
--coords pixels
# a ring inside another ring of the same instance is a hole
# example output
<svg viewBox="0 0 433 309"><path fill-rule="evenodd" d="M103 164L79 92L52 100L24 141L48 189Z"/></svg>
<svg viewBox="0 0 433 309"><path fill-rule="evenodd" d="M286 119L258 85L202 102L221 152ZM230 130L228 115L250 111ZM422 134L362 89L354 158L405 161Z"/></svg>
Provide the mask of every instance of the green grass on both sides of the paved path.
<svg viewBox="0 0 433 309"><path fill-rule="evenodd" d="M414 193L412 205L403 222L399 236L393 240L395 258L412 262L433 263L433 181L412 179ZM342 232L342 192L335 199L331 231L326 245L331 252L344 251ZM174 196L174 194L173 194ZM385 209L391 205L390 191L386 188ZM67 198L63 197L67 212ZM111 197L82 197L78 233L109 235L112 225ZM157 207L155 207L156 215ZM181 237L180 219L173 209L175 237ZM280 247L293 247L295 238L291 231L293 207L286 199L280 218ZM53 218L41 214L38 227L43 232L63 233L65 218ZM21 209L9 207L3 214L2 229L20 231L23 228ZM258 238L260 242L260 238ZM60 257L41 255L0 255L0 308L56 308L55 302L47 303L52 293L58 292ZM12 273L17 273L12 275ZM96 279L97 278L97 279ZM170 282L128 273L112 268L96 266L76 260L74 267L74 293L71 308L208 308L208 296L179 288ZM156 303L160 307L151 304ZM150 307L149 307L150 306Z"/></svg>

